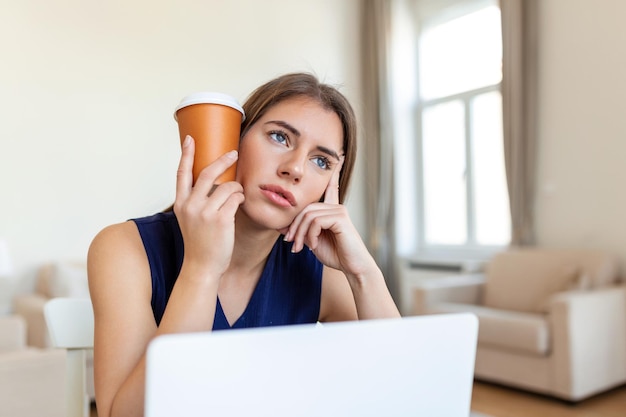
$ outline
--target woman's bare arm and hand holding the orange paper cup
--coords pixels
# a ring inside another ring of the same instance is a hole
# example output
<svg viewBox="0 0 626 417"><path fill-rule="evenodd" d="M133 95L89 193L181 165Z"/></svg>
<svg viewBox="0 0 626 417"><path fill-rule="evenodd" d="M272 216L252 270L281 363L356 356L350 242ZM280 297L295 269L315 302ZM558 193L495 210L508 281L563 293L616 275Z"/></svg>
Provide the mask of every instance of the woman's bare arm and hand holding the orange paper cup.
<svg viewBox="0 0 626 417"><path fill-rule="evenodd" d="M143 415L145 353L154 337L213 327L219 280L232 255L234 213L243 195L239 184L225 183L209 196L215 178L234 163L233 155L207 167L192 187L193 141L186 144L174 204L185 257L158 328L150 303L150 266L136 225L126 222L104 229L89 249L100 416Z"/></svg>

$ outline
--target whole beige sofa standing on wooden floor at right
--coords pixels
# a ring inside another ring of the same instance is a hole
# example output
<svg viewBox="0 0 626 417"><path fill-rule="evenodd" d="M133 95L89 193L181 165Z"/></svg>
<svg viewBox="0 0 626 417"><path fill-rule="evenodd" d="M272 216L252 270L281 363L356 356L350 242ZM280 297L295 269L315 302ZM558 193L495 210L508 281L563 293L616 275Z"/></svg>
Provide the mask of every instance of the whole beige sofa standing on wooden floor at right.
<svg viewBox="0 0 626 417"><path fill-rule="evenodd" d="M477 379L578 401L626 383L621 281L605 253L511 249L484 274L421 284L414 313L475 313Z"/></svg>

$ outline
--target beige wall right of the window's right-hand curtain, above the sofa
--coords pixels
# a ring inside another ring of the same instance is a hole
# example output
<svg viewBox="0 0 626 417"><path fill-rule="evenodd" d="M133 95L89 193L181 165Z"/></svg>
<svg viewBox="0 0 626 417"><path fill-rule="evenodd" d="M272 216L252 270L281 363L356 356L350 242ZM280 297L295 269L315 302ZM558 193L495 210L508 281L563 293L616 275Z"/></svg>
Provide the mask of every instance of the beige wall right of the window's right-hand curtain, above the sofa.
<svg viewBox="0 0 626 417"><path fill-rule="evenodd" d="M539 3L538 243L626 262L626 2Z"/></svg>

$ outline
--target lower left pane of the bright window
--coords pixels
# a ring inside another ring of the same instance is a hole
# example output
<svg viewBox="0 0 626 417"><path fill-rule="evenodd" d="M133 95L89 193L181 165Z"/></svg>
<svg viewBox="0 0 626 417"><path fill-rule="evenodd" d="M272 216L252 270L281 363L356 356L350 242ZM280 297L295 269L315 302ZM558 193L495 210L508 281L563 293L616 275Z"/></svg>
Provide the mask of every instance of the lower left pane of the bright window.
<svg viewBox="0 0 626 417"><path fill-rule="evenodd" d="M459 245L467 240L463 113L460 101L422 113L424 231L429 244Z"/></svg>

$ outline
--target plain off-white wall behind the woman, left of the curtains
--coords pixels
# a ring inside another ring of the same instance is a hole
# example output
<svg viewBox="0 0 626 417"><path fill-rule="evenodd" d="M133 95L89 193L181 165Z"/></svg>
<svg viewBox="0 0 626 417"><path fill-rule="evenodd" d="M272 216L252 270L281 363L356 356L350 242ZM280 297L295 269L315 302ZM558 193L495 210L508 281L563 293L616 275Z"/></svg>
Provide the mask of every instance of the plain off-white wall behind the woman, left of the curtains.
<svg viewBox="0 0 626 417"><path fill-rule="evenodd" d="M243 101L303 70L358 112L358 15L358 0L0 0L0 237L17 291L42 262L84 259L105 225L173 201L182 96Z"/></svg>

